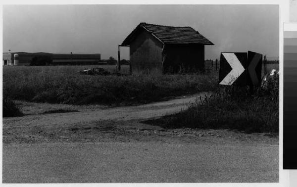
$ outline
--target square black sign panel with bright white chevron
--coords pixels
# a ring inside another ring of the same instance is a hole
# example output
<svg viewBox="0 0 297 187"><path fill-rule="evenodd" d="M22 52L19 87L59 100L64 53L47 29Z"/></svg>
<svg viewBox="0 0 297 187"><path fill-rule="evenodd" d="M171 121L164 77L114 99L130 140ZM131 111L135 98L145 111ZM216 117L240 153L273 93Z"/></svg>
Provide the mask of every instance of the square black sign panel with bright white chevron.
<svg viewBox="0 0 297 187"><path fill-rule="evenodd" d="M220 85L246 85L246 52L221 52Z"/></svg>

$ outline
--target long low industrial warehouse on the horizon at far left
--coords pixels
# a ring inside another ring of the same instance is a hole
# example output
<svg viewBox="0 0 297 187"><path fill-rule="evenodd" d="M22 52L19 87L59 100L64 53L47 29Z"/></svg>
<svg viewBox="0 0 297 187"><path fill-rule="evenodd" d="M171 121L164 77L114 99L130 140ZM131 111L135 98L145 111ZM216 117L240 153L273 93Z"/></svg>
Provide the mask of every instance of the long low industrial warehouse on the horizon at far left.
<svg viewBox="0 0 297 187"><path fill-rule="evenodd" d="M99 53L46 53L46 52L6 52L3 53L3 65L25 66L32 65L38 59L48 60L46 65L84 65L98 64L101 60ZM34 64L39 65L39 64Z"/></svg>

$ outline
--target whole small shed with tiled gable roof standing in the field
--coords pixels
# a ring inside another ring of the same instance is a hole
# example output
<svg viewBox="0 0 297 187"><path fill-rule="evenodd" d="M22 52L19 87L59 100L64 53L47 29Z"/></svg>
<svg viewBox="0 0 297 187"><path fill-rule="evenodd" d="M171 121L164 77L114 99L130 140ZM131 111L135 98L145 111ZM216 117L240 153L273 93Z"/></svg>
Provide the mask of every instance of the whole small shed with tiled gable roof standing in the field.
<svg viewBox="0 0 297 187"><path fill-rule="evenodd" d="M204 70L204 46L213 45L192 27L140 23L123 41L130 47L130 72Z"/></svg>

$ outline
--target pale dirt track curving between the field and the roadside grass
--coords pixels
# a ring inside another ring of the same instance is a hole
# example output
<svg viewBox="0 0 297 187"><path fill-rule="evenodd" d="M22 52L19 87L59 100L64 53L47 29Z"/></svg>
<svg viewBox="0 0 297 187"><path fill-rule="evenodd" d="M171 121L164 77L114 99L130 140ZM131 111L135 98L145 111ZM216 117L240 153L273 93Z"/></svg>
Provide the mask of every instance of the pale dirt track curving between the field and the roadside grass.
<svg viewBox="0 0 297 187"><path fill-rule="evenodd" d="M4 118L3 123L10 125L53 125L53 124L73 124L90 121L102 120L132 120L148 119L160 117L185 108L188 104L195 102L198 96L204 96L206 93L200 93L191 96L185 96L169 101L155 102L139 106L125 106L115 108L105 108L93 111L61 113L61 114L42 114L28 115L25 117Z"/></svg>

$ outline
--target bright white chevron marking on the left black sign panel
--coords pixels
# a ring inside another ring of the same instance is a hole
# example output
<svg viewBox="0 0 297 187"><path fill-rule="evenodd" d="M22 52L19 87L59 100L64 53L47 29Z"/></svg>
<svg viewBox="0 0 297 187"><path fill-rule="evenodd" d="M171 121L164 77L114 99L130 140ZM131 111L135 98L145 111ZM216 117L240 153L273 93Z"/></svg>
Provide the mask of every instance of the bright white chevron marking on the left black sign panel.
<svg viewBox="0 0 297 187"><path fill-rule="evenodd" d="M219 83L220 85L232 85L236 79L245 71L244 66L234 53L222 53L227 62L230 64L232 70Z"/></svg>

